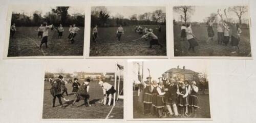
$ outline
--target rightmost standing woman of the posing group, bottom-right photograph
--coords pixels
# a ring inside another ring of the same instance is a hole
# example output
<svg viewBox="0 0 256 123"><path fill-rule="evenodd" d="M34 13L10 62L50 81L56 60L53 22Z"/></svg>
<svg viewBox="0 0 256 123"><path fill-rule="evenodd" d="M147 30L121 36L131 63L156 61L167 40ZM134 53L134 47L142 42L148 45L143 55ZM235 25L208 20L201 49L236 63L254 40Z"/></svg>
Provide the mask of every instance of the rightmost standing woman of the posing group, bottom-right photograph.
<svg viewBox="0 0 256 123"><path fill-rule="evenodd" d="M196 111L197 108L199 108L198 106L198 97L197 97L197 93L198 93L198 87L196 86L197 83L195 81L191 82L191 89L190 89L190 96L189 96L189 108L191 108L191 113L193 117L196 117Z"/></svg>

